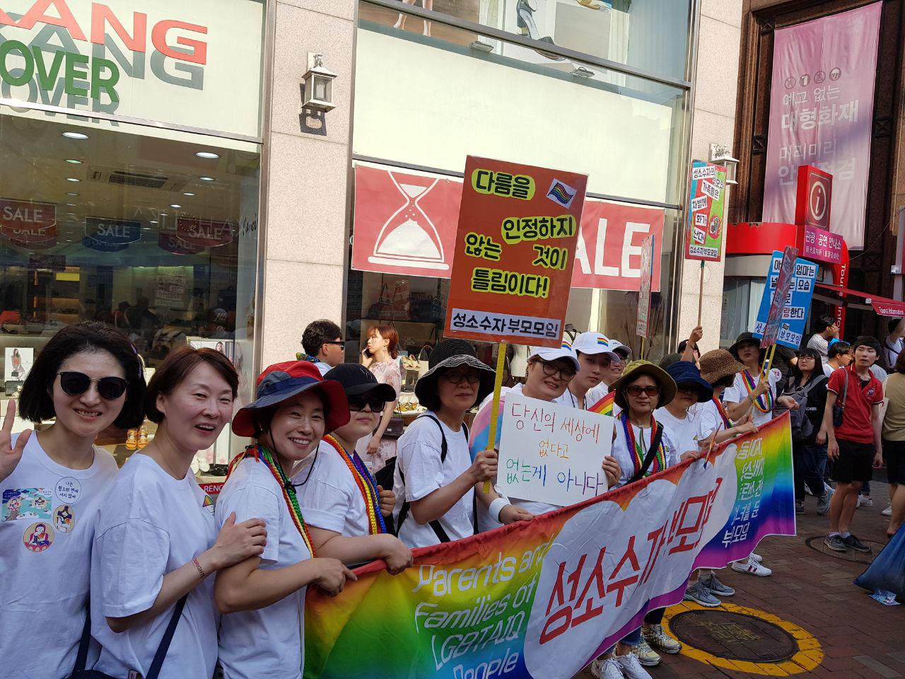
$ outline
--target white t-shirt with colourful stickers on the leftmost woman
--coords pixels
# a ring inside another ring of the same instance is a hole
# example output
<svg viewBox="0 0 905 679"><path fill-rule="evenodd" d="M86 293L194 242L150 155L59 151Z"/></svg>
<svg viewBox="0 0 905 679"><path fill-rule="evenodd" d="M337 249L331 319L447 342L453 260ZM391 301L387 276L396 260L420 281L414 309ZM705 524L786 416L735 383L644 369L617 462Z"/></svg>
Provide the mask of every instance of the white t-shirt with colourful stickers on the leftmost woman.
<svg viewBox="0 0 905 679"><path fill-rule="evenodd" d="M3 679L72 672L85 625L98 506L116 473L113 455L98 447L88 469L57 464L32 433L19 464L0 482ZM97 655L92 644L89 668Z"/></svg>

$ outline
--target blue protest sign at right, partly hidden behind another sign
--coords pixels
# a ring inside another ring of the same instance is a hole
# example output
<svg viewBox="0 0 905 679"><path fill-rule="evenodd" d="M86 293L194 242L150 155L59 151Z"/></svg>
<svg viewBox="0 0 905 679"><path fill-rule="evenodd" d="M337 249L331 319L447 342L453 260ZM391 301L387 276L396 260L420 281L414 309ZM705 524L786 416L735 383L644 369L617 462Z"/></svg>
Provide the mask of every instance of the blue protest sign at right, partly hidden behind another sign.
<svg viewBox="0 0 905 679"><path fill-rule="evenodd" d="M788 249L788 248L786 248ZM760 298L760 307L757 311L757 323L754 326L754 336L762 338L767 329L770 310L776 300L776 286L783 268L784 253L774 252L770 259L770 270L767 273L767 286ZM791 282L786 292L785 303L782 303L782 315L777 317L776 344L789 349L800 349L805 335L805 320L811 308L811 299L814 297L814 285L817 280L817 265L805 259L796 259L792 270ZM780 301L782 301L780 299ZM771 342L772 343L772 342Z"/></svg>

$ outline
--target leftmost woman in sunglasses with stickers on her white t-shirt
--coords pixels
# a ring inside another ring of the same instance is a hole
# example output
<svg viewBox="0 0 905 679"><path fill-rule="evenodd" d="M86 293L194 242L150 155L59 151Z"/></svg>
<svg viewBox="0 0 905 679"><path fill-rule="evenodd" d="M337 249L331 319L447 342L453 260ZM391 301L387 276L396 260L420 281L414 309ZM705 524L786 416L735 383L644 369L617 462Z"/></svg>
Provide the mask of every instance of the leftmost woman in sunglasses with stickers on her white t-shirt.
<svg viewBox="0 0 905 679"><path fill-rule="evenodd" d="M20 415L52 426L13 435L9 401L0 431L0 658L16 676L72 672L98 506L117 474L113 455L94 439L109 426L141 424L144 394L129 340L92 322L57 332L25 379ZM96 657L92 647L90 662Z"/></svg>

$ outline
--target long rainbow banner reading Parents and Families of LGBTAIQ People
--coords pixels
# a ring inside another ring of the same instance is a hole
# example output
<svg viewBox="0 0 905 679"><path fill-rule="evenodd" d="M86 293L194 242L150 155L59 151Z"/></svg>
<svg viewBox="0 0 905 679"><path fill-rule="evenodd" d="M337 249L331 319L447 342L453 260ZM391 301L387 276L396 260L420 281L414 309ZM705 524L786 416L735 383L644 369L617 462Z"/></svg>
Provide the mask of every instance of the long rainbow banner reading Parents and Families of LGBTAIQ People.
<svg viewBox="0 0 905 679"><path fill-rule="evenodd" d="M689 574L795 535L788 415L599 497L308 589L306 679L572 677Z"/></svg>

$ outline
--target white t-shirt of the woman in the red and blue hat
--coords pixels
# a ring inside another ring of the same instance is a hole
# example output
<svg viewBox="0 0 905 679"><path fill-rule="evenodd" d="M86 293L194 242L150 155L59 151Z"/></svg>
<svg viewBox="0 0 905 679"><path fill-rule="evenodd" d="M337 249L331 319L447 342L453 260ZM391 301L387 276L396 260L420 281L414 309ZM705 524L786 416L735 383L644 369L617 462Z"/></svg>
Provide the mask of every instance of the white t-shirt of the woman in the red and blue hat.
<svg viewBox="0 0 905 679"><path fill-rule="evenodd" d="M217 498L217 526L223 526L232 512L237 523L258 518L267 524L262 569L282 569L311 558L292 521L280 483L266 464L246 458L233 469ZM305 662L306 589L266 608L224 615L220 623L220 664L226 679L300 679Z"/></svg>

